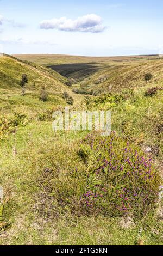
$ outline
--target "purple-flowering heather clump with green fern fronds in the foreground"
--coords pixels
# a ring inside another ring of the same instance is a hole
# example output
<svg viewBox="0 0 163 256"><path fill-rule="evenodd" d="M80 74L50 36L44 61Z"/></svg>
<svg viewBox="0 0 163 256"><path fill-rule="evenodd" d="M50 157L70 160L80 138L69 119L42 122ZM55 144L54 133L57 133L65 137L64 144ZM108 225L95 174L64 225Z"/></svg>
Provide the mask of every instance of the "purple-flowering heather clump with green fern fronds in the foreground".
<svg viewBox="0 0 163 256"><path fill-rule="evenodd" d="M151 158L113 132L88 135L80 155L86 162L80 208L91 214L142 216L158 198L159 173Z"/></svg>

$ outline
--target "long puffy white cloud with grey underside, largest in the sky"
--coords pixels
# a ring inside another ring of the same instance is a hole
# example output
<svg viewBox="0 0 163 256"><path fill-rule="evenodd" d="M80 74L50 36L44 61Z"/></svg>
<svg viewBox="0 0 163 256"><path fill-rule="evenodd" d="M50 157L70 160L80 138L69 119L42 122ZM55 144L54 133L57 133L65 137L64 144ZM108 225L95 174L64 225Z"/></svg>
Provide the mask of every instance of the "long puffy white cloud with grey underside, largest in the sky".
<svg viewBox="0 0 163 256"><path fill-rule="evenodd" d="M104 31L102 19L95 14L87 14L78 17L76 20L61 17L60 19L44 20L40 23L41 29L59 29L60 31L91 32L99 33Z"/></svg>

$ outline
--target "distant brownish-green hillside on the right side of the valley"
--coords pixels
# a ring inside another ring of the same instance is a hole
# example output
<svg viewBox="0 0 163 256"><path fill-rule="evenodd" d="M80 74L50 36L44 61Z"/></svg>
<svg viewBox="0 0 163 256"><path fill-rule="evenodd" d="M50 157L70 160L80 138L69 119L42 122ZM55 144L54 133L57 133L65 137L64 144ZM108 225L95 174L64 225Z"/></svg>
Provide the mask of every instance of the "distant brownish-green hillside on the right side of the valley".
<svg viewBox="0 0 163 256"><path fill-rule="evenodd" d="M129 65L114 65L103 68L89 78L83 81L83 86L90 85L93 90L104 89L118 91L123 88L142 87L145 85L144 76L147 72L153 74L153 80L156 84L163 83L163 60L149 60L143 63L132 63ZM95 85L99 77L106 76L107 80Z"/></svg>

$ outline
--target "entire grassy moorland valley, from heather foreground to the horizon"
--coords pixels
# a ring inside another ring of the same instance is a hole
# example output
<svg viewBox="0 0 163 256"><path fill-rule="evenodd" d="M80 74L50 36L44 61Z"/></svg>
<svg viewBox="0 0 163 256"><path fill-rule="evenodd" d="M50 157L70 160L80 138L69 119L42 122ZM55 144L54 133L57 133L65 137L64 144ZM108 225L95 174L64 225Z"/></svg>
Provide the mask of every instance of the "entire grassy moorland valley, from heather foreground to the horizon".
<svg viewBox="0 0 163 256"><path fill-rule="evenodd" d="M162 74L159 56L0 58L1 245L162 245ZM111 111L111 135L53 131L65 106Z"/></svg>

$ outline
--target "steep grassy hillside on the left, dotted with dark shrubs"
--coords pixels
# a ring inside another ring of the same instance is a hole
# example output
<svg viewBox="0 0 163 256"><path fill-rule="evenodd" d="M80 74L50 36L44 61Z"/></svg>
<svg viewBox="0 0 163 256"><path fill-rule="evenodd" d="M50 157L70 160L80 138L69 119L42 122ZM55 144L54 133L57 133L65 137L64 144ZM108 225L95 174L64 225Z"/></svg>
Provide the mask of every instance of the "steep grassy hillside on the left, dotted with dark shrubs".
<svg viewBox="0 0 163 256"><path fill-rule="evenodd" d="M26 95L21 96L21 76L27 74L28 84ZM10 56L0 58L0 108L1 112L10 112L13 108L35 112L39 109L49 109L58 105L65 105L62 93L66 90L74 100L79 96L72 93L64 83L66 78L53 70L41 66L22 62ZM41 87L44 86L48 92L49 100L42 104L39 100Z"/></svg>

